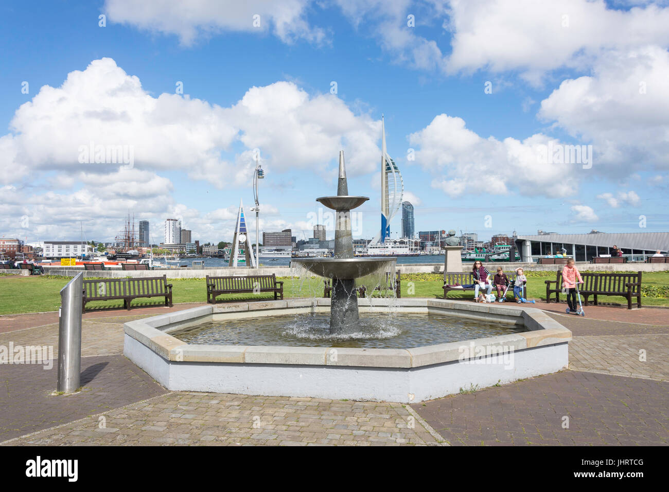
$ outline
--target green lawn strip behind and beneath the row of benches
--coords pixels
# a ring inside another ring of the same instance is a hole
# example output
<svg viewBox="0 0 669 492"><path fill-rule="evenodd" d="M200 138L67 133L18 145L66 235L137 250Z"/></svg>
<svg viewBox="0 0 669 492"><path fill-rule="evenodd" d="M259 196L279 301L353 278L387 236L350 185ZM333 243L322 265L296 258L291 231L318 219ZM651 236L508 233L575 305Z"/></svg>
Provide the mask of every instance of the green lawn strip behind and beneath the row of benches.
<svg viewBox="0 0 669 492"><path fill-rule="evenodd" d="M554 272L527 272L528 299L544 299L546 286L544 280L554 279ZM0 315L15 313L34 313L37 311L57 311L60 306L60 289L70 280L55 276L20 276L0 275ZM282 278L286 297L321 297L323 283L318 278L302 280L300 278ZM207 301L205 280L203 278L173 278L173 300L175 303L204 303ZM669 272L644 272L644 291L657 297L644 297L642 303L651 306L669 306ZM441 299L443 280L440 274L420 273L405 274L401 277L402 297L432 297ZM649 290L650 289L650 290ZM378 293L377 293L378 295ZM448 293L448 299L472 299L474 293ZM225 295L219 299L253 299L256 295ZM260 298L274 299L273 295L261 295ZM507 299L512 299L509 289ZM626 304L624 297L599 297L601 302ZM137 299L134 305L153 303L154 300ZM156 303L159 301L156 299ZM122 307L122 301L89 303L90 307Z"/></svg>

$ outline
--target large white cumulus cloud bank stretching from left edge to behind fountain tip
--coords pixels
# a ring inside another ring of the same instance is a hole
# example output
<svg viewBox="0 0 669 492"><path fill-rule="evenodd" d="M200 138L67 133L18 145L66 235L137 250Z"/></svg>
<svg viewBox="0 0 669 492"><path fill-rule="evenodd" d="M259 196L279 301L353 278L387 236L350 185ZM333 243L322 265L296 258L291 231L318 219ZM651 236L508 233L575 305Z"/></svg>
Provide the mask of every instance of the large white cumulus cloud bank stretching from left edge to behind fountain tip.
<svg viewBox="0 0 669 492"><path fill-rule="evenodd" d="M270 173L309 169L329 178L346 149L347 171L355 176L377 163L381 122L355 114L337 96L310 96L291 82L253 87L229 107L177 94L153 97L138 78L102 58L68 74L58 88L43 86L17 109L10 129L0 137L0 165L11 169L0 175L0 185L11 184L0 203L8 234L62 238L82 221L96 238L113 238L116 226L100 218L117 220L120 229L128 210L141 210L138 219L183 218L194 233L220 237L233 228L236 210L229 219L177 203L173 183L161 173L185 171L219 188L248 185L257 148ZM116 159L128 150L131 162ZM43 176L51 191L35 192L33 175ZM271 204L262 210L278 214ZM29 231L13 220L23 215Z"/></svg>

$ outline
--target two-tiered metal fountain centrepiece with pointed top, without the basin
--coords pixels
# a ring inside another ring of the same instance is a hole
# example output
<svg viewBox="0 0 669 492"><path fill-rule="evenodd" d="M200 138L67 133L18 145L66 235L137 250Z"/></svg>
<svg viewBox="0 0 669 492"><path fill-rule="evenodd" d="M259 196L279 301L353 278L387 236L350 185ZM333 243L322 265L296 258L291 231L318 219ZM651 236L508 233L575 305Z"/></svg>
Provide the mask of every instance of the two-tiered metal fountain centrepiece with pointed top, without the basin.
<svg viewBox="0 0 669 492"><path fill-rule="evenodd" d="M316 198L337 212L334 225L334 258L296 258L292 260L316 275L332 279L330 333L355 329L359 323L358 297L355 279L395 266L395 259L353 258L351 210L361 206L369 197L349 195L344 151L339 151L339 181L337 196Z"/></svg>

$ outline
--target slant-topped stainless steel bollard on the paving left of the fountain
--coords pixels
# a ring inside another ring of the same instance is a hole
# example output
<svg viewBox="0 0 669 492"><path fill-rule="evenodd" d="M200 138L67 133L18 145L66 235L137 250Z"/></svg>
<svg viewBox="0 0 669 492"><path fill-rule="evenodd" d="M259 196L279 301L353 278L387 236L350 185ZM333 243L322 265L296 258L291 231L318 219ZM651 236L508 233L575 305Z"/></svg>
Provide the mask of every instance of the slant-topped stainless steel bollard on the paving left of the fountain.
<svg viewBox="0 0 669 492"><path fill-rule="evenodd" d="M83 272L72 278L60 291L57 386L59 392L74 393L80 386L83 293Z"/></svg>

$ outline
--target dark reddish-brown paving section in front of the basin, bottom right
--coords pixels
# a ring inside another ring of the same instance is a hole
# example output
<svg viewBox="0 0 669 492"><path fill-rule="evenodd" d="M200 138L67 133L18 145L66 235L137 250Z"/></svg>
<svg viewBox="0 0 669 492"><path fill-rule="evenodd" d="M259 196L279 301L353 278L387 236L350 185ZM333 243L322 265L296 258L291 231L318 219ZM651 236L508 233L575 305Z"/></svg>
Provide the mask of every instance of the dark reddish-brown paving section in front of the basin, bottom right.
<svg viewBox="0 0 669 492"><path fill-rule="evenodd" d="M668 394L668 382L565 371L412 407L451 445L666 445Z"/></svg>

